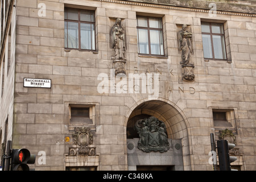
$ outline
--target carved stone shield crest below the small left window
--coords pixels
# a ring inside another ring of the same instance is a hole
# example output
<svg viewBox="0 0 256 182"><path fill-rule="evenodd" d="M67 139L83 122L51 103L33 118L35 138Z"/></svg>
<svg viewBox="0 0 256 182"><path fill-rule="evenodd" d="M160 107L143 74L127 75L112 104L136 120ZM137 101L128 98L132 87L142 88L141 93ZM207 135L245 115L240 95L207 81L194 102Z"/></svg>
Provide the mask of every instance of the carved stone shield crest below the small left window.
<svg viewBox="0 0 256 182"><path fill-rule="evenodd" d="M69 155L95 155L95 148L89 147L93 143L93 134L90 133L89 127L76 127L73 134L74 143L78 148L69 148Z"/></svg>

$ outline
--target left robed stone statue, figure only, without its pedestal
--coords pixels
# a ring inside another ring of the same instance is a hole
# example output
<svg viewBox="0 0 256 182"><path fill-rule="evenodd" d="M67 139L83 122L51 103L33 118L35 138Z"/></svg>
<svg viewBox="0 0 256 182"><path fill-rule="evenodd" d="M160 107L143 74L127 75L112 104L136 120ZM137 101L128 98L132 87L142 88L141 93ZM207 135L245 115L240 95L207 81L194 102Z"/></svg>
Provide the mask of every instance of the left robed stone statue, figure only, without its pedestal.
<svg viewBox="0 0 256 182"><path fill-rule="evenodd" d="M115 59L125 59L125 31L121 25L121 18L115 20L111 31L112 48L114 48Z"/></svg>

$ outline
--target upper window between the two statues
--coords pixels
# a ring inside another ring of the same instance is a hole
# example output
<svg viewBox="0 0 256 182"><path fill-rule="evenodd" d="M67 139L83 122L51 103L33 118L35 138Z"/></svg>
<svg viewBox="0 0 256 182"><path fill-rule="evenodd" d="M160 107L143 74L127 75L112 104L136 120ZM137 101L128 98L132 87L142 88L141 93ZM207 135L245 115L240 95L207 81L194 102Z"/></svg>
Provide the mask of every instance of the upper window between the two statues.
<svg viewBox="0 0 256 182"><path fill-rule="evenodd" d="M144 55L164 55L162 18L137 17L138 51Z"/></svg>

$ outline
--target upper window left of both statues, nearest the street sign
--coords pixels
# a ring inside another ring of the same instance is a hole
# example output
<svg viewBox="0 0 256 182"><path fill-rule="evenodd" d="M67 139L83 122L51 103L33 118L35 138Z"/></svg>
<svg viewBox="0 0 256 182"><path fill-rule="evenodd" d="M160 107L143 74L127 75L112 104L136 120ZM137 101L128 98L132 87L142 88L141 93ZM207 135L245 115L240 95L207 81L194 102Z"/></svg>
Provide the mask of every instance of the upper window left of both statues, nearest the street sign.
<svg viewBox="0 0 256 182"><path fill-rule="evenodd" d="M65 48L95 50L94 11L65 8Z"/></svg>

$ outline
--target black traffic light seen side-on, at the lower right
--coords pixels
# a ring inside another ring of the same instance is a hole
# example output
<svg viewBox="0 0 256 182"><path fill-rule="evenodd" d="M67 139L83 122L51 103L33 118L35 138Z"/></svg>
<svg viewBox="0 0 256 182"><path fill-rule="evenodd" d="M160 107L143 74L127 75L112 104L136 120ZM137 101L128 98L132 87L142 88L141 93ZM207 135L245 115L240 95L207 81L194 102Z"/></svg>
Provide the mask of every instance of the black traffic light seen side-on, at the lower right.
<svg viewBox="0 0 256 182"><path fill-rule="evenodd" d="M228 143L227 140L218 140L218 163L220 166L220 171L231 171L230 163L237 160L236 156L229 156L229 150L236 147L233 143Z"/></svg>

